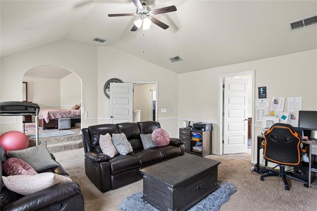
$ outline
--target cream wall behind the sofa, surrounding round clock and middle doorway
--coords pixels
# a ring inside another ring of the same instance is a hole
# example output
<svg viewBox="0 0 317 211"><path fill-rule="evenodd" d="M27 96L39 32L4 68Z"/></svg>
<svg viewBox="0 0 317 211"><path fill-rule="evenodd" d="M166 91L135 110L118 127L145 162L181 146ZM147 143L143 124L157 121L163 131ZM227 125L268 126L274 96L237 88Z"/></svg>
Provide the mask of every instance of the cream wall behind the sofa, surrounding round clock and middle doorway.
<svg viewBox="0 0 317 211"><path fill-rule="evenodd" d="M178 137L177 95L178 75L170 70L147 62L113 47L98 47L98 123L109 122L108 103L104 85L110 78L119 78L125 83L158 81L158 121L171 137Z"/></svg>

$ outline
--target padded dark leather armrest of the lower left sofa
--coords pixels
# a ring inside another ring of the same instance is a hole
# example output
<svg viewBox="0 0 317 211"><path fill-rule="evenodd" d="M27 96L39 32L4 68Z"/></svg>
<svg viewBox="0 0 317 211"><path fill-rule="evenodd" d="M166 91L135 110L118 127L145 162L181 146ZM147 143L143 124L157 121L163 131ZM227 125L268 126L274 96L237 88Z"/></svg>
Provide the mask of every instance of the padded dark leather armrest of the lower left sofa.
<svg viewBox="0 0 317 211"><path fill-rule="evenodd" d="M64 201L76 194L79 194L79 198L76 197L76 201L64 203ZM69 203L73 205L69 205ZM45 209L52 206L61 206L65 204L65 208L79 208L79 210L84 210L84 199L80 191L79 185L76 182L63 182L46 188L42 191L27 195L18 199L15 202L7 205L2 211L31 211L38 209ZM82 209L80 209L82 207ZM52 210L52 209L51 209ZM67 210L67 209L65 209ZM69 210L69 209L68 209Z"/></svg>

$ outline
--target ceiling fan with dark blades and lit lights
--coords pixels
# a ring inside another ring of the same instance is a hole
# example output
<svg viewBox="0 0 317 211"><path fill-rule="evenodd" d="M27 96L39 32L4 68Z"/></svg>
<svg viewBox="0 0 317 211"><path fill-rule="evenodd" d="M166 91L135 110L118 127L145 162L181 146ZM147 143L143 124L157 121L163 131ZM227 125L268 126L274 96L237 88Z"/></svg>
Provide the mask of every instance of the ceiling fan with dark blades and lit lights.
<svg viewBox="0 0 317 211"><path fill-rule="evenodd" d="M134 22L134 26L131 31L135 32L138 28L143 28L143 30L147 30L150 28L151 23L158 25L162 29L167 29L169 26L165 23L159 21L152 15L173 12L176 11L176 6L166 6L159 9L151 9L146 6L148 0L132 0L135 6L137 7L136 13L123 13L123 14L108 14L109 17L119 17L119 16L140 16L140 19Z"/></svg>

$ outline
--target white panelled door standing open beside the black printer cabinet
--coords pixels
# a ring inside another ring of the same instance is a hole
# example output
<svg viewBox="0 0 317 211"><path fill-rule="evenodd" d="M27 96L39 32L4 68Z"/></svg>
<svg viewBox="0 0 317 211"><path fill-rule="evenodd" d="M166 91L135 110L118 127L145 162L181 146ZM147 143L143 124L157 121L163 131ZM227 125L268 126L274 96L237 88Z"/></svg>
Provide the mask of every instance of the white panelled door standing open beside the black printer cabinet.
<svg viewBox="0 0 317 211"><path fill-rule="evenodd" d="M248 150L248 79L224 78L223 154Z"/></svg>

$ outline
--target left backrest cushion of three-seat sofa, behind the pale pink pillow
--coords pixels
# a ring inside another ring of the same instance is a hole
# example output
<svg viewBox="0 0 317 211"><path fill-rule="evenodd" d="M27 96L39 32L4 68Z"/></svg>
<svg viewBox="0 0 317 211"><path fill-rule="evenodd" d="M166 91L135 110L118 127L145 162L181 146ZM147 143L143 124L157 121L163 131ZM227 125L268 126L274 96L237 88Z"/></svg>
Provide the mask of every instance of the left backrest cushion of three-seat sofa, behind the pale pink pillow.
<svg viewBox="0 0 317 211"><path fill-rule="evenodd" d="M106 135L107 133L109 133L110 136L112 136L113 133L119 133L118 128L115 124L93 125L93 126L89 126L88 129L91 136L91 145L93 149L95 148L95 146L99 147L100 135ZM101 153L100 147L99 147L99 152L97 153Z"/></svg>

